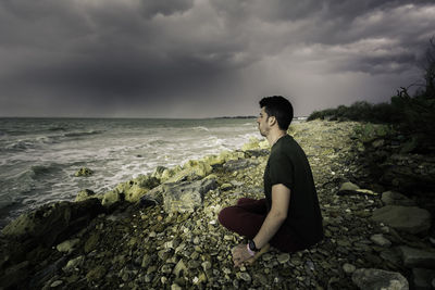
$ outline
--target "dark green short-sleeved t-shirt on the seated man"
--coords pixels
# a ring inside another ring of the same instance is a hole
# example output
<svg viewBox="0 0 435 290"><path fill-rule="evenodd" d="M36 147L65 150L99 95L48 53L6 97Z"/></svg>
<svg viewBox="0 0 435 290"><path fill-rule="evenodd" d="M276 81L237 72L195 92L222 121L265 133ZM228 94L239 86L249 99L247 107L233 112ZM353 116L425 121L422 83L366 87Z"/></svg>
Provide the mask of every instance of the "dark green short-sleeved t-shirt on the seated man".
<svg viewBox="0 0 435 290"><path fill-rule="evenodd" d="M289 135L272 147L264 171L268 211L272 205L272 186L278 184L290 189L287 219L282 227L288 227L301 244L319 242L323 238L322 214L311 167L306 153Z"/></svg>

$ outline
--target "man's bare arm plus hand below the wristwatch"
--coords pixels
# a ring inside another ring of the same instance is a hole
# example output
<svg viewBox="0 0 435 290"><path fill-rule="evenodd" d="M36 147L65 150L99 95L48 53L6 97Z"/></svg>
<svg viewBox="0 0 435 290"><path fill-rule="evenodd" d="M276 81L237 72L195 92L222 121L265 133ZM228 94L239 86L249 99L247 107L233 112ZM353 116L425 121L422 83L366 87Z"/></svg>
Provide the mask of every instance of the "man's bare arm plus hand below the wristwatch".
<svg viewBox="0 0 435 290"><path fill-rule="evenodd" d="M281 225L287 217L290 201L290 189L279 184L272 186L272 207L265 217L259 232L253 238L258 249L263 248L278 231ZM236 267L252 257L246 244L237 245L233 251L233 261Z"/></svg>

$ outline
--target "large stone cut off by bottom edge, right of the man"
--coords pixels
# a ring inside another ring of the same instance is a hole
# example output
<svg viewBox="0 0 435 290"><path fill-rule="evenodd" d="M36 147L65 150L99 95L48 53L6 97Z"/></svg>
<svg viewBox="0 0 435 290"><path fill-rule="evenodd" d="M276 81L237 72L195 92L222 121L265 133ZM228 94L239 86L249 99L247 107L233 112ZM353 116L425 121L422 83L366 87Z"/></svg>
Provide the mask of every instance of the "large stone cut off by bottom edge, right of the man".
<svg viewBox="0 0 435 290"><path fill-rule="evenodd" d="M408 280L400 274L374 268L360 268L352 274L352 281L361 290L408 290Z"/></svg>

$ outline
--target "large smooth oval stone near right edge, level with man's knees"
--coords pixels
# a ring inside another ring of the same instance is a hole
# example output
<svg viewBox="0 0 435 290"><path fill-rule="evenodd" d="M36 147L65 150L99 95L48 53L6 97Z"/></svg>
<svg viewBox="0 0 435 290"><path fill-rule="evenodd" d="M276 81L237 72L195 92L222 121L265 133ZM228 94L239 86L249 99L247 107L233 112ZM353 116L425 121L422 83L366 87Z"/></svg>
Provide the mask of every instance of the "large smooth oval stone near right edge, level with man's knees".
<svg viewBox="0 0 435 290"><path fill-rule="evenodd" d="M375 210L371 219L410 234L431 228L430 212L417 206L386 205Z"/></svg>

